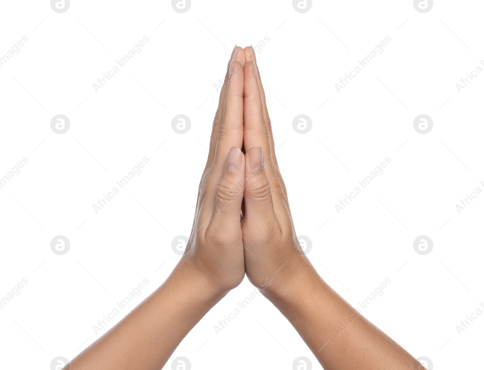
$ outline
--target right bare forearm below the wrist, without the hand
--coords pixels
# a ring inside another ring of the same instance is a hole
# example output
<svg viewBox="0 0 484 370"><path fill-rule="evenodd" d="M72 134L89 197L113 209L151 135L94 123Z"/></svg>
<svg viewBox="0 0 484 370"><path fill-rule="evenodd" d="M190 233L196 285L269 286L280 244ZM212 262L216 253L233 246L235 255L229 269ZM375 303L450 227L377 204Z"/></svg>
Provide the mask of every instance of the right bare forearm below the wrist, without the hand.
<svg viewBox="0 0 484 370"><path fill-rule="evenodd" d="M334 292L307 262L292 280L290 287L268 298L324 369L419 369L420 363Z"/></svg>

